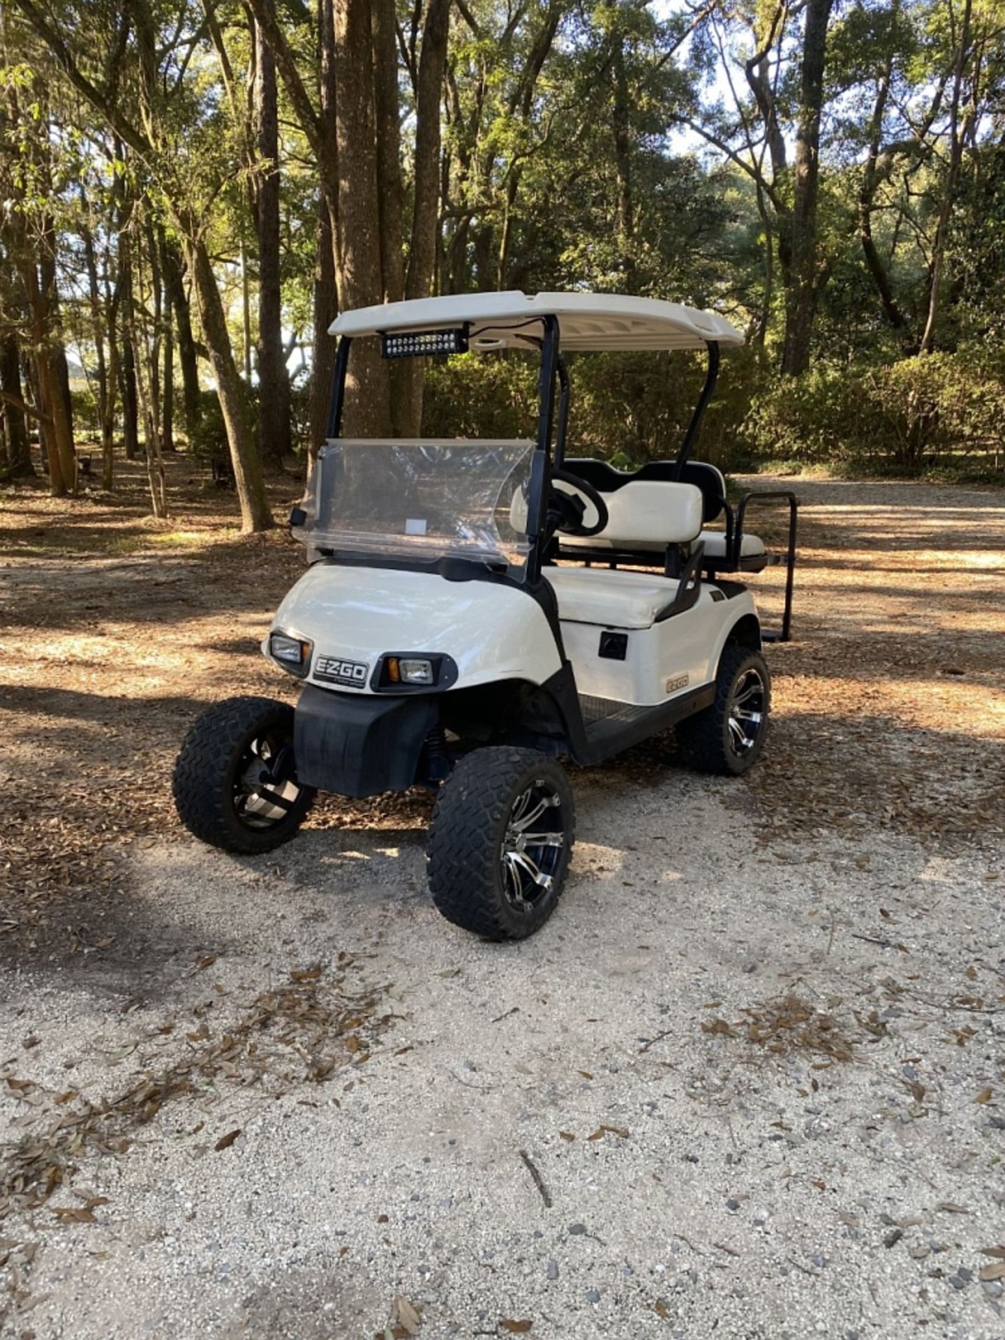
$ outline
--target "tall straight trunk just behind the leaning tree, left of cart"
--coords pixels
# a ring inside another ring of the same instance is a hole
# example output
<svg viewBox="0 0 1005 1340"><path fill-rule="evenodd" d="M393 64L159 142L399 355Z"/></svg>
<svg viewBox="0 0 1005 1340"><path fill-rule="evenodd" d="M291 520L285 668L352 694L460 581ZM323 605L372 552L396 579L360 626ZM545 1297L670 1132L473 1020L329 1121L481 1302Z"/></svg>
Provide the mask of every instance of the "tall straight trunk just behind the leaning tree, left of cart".
<svg viewBox="0 0 1005 1340"><path fill-rule="evenodd" d="M275 9L275 0L268 0ZM292 454L289 374L283 350L283 289L279 264L279 111L276 62L264 34L255 34L255 121L259 154L259 452L281 466Z"/></svg>

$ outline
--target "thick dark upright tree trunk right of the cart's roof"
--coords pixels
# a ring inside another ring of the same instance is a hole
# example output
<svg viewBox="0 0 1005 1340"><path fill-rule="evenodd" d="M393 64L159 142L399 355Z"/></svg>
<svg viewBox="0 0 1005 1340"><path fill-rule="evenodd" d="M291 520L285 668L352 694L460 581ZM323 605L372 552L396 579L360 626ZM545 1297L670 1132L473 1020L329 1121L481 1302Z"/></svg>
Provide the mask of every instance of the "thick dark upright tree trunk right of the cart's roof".
<svg viewBox="0 0 1005 1340"><path fill-rule="evenodd" d="M807 0L803 75L796 134L792 201L792 263L785 303L781 370L799 377L809 367L809 340L817 299L816 206L820 188L820 109L824 92L827 25L833 0Z"/></svg>

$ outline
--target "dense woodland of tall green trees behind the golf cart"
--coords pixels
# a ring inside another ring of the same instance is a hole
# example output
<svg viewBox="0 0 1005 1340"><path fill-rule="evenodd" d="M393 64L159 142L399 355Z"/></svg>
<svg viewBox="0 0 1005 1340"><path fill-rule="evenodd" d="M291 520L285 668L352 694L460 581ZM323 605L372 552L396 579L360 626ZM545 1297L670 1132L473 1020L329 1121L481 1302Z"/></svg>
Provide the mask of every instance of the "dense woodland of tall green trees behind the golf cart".
<svg viewBox="0 0 1005 1340"><path fill-rule="evenodd" d="M1002 448L997 0L11 0L0 469L229 476L316 449L340 308L594 288L712 307L705 453L922 469ZM673 364L673 366L671 366ZM504 356L356 364L356 431L477 430ZM575 368L582 445L670 448L686 359ZM177 385L177 394L176 394ZM988 460L992 457L988 456Z"/></svg>

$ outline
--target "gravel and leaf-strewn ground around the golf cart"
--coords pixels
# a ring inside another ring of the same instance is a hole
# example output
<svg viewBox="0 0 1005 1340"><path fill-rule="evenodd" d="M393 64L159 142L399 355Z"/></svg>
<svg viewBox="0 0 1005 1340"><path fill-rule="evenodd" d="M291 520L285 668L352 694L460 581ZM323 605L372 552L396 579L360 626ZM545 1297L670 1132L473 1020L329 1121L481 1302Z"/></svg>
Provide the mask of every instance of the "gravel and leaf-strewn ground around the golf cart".
<svg viewBox="0 0 1005 1340"><path fill-rule="evenodd" d="M576 773L509 949L421 797L177 829L192 714L287 690L281 536L5 500L0 1333L1002 1333L1005 496L793 486L762 764Z"/></svg>

